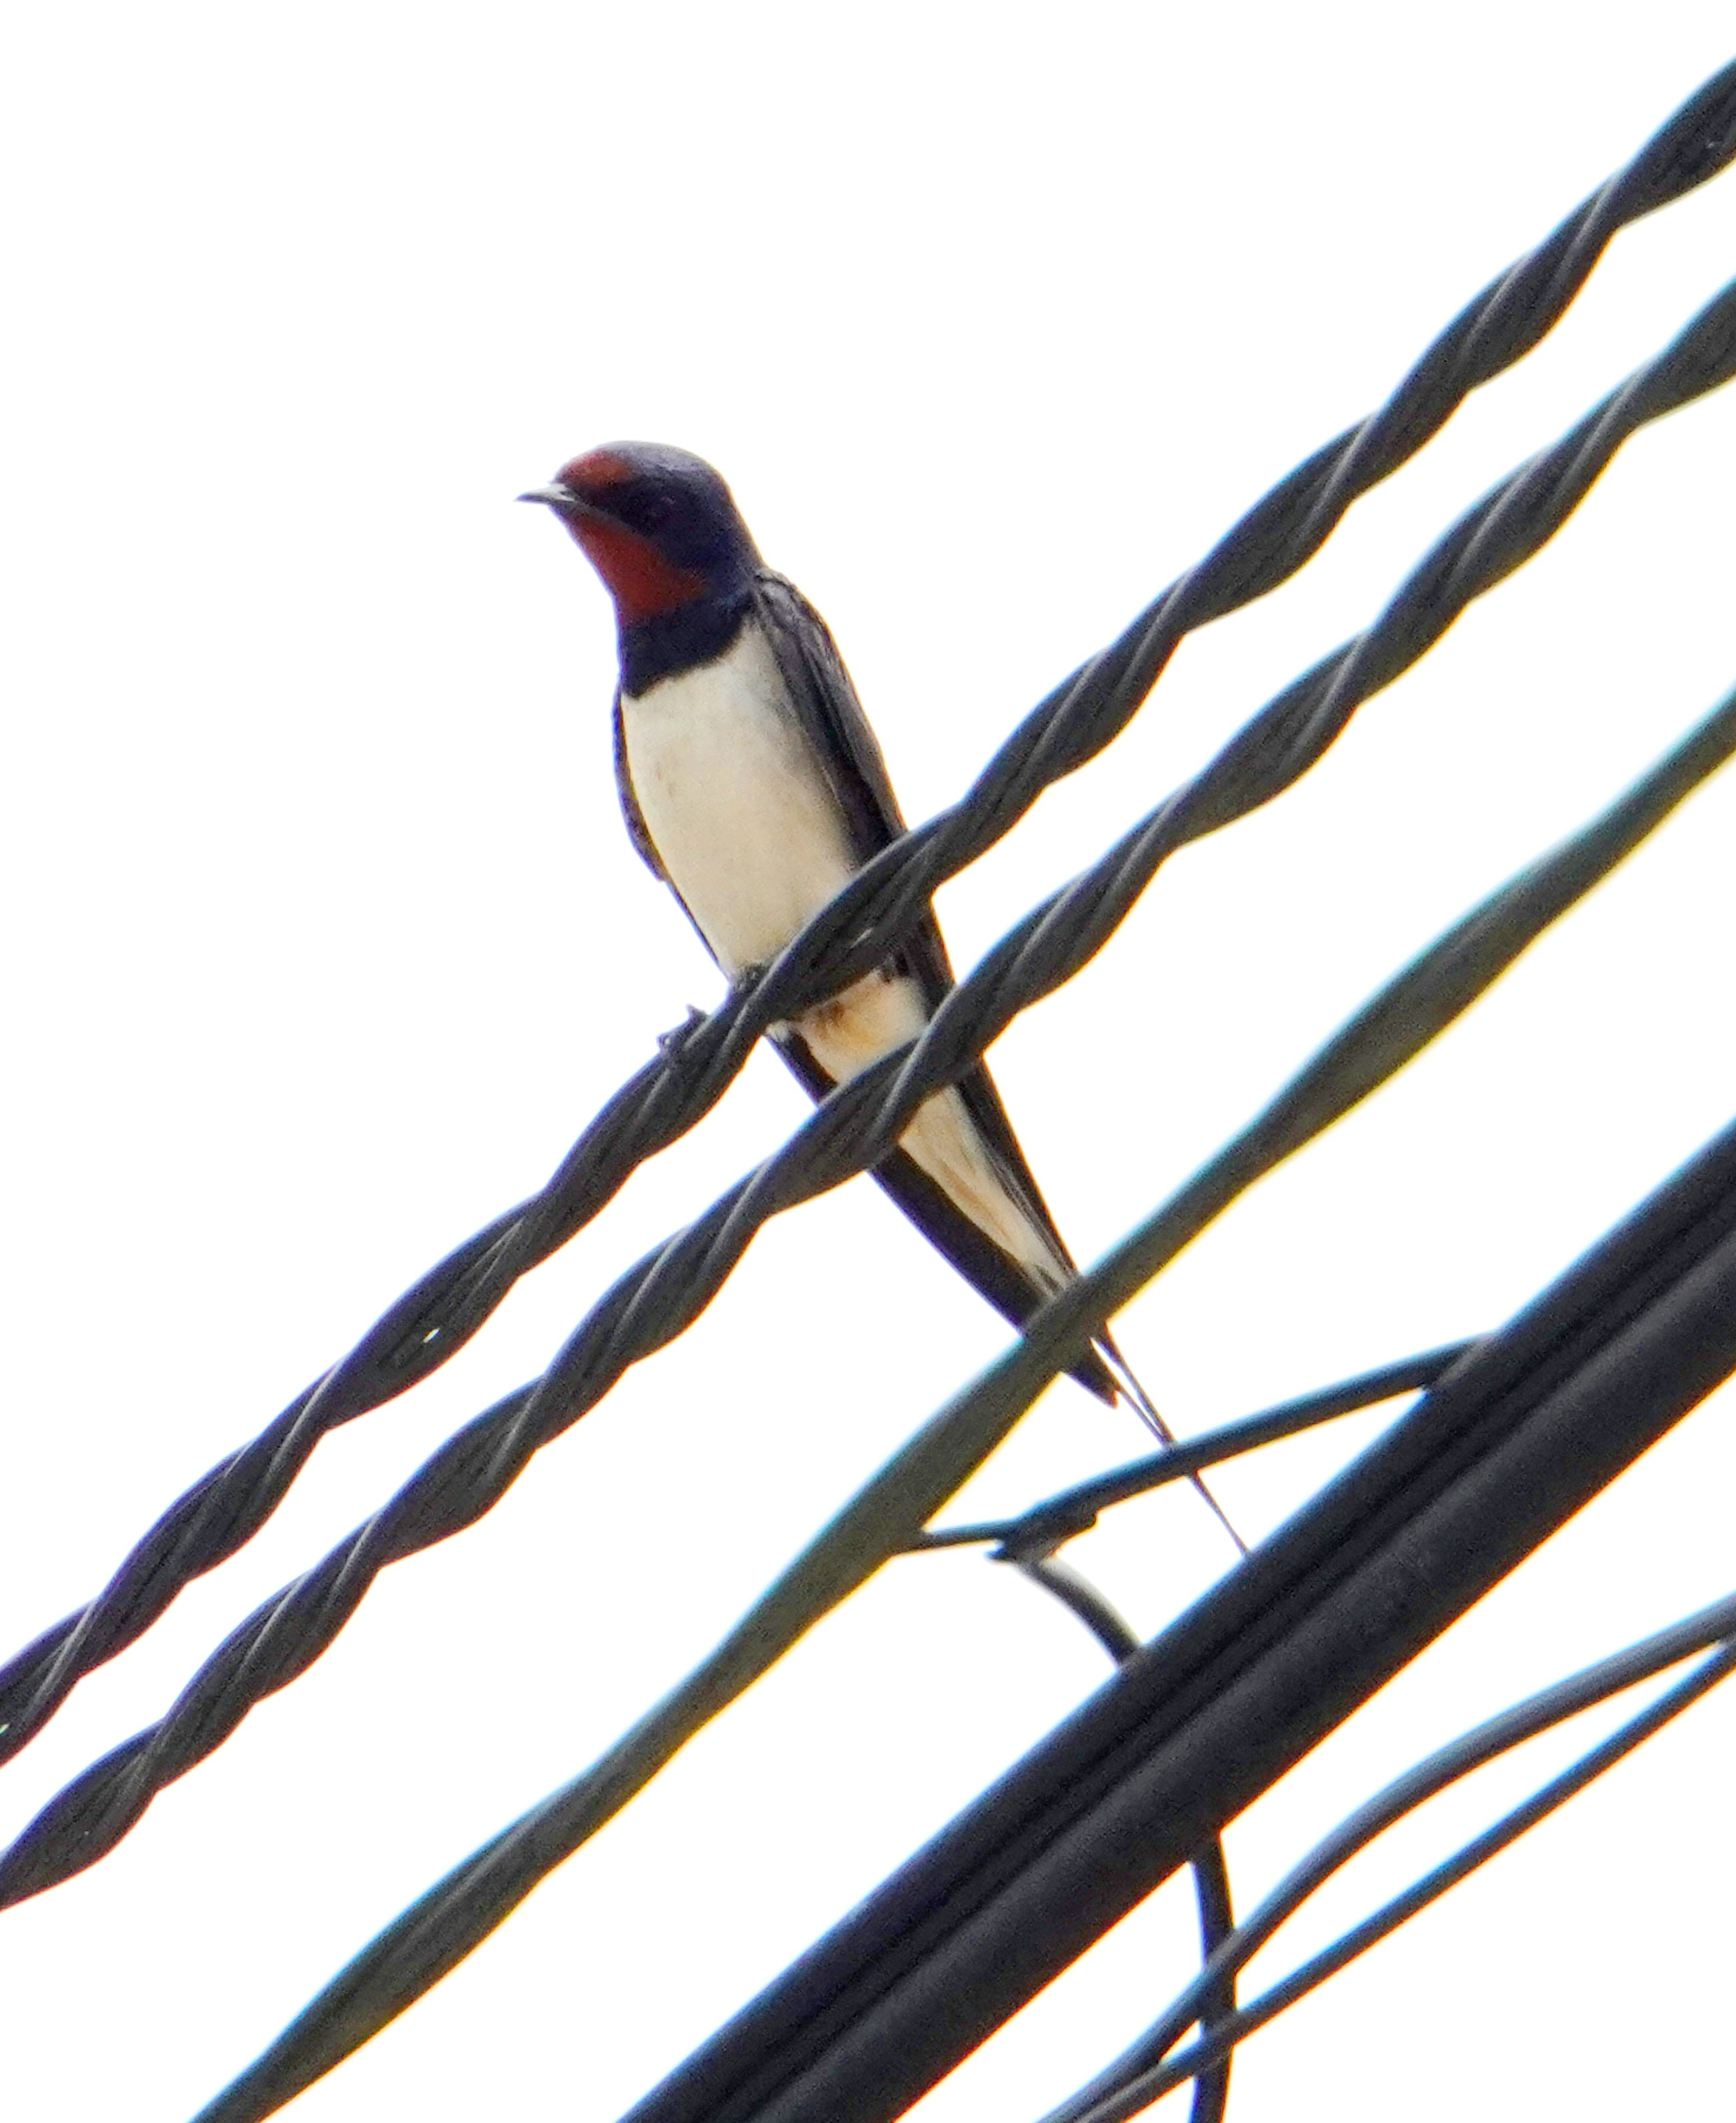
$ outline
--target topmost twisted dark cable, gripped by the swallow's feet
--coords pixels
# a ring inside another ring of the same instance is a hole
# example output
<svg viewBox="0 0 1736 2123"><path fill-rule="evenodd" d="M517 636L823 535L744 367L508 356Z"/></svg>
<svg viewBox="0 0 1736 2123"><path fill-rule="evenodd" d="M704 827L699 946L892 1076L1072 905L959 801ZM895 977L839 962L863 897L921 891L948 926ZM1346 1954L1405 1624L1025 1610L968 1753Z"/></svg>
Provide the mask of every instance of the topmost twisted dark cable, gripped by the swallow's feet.
<svg viewBox="0 0 1736 2123"><path fill-rule="evenodd" d="M722 1098L756 1038L879 964L930 894L1006 834L1053 781L1131 720L1182 635L1297 573L1350 505L1413 456L1464 397L1520 361L1566 312L1617 229L1683 197L1736 157L1736 64L1433 342L1392 397L1316 450L1133 624L1055 688L972 790L870 864L751 994L688 1028L603 1106L531 1202L507 1210L399 1297L331 1371L155 1522L87 1607L0 1669L0 1760L23 1747L85 1673L136 1641L195 1577L272 1516L318 1439L456 1354L511 1284L613 1199L632 1170Z"/></svg>

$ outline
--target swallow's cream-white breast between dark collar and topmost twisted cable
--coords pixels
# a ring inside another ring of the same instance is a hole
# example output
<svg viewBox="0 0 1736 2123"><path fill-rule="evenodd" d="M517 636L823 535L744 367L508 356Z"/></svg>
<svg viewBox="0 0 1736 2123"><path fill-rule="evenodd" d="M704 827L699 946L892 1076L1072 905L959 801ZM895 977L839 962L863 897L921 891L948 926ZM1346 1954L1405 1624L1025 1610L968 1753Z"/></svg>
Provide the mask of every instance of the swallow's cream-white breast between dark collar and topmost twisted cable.
<svg viewBox="0 0 1736 2123"><path fill-rule="evenodd" d="M622 701L645 830L724 972L764 966L855 870L758 626Z"/></svg>

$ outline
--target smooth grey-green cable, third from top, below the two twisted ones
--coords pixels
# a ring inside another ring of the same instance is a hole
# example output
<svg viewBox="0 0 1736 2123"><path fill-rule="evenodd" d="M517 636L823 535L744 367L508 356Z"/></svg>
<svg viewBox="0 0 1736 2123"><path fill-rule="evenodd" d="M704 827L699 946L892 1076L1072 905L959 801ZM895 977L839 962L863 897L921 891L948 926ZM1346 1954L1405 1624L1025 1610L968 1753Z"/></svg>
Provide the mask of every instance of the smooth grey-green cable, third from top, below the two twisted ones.
<svg viewBox="0 0 1736 2123"><path fill-rule="evenodd" d="M1715 756L1730 756L1732 749L1736 694L1621 802L1553 856L1520 873L1390 981L1195 1180L1076 1284L1051 1299L1000 1363L923 1425L694 1673L592 1768L492 1836L386 1926L202 2110L199 2123L259 2123L439 1983L705 1724L745 1694L885 1560L908 1548L927 1518L980 1467L1038 1393L1067 1369L1082 1340L1125 1304L1131 1289L1148 1282L1254 1180L1426 1047L1556 915L1607 875L1713 771ZM344 1560L340 1550L333 1565L342 1569Z"/></svg>

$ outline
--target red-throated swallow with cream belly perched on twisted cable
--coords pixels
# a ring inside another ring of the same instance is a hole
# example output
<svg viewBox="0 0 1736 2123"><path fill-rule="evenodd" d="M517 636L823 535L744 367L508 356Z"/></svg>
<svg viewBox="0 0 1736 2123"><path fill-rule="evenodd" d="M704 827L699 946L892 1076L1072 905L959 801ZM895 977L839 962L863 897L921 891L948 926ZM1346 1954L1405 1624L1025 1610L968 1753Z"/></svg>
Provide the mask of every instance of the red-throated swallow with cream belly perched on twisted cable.
<svg viewBox="0 0 1736 2123"><path fill-rule="evenodd" d="M632 845L722 970L751 977L904 832L832 635L688 450L611 442L520 499L554 510L615 601L615 783ZM927 911L885 966L772 1040L821 1100L917 1038L951 987ZM980 1062L917 1108L874 1178L1014 1327L1078 1274ZM1169 1439L1108 1331L1072 1374Z"/></svg>

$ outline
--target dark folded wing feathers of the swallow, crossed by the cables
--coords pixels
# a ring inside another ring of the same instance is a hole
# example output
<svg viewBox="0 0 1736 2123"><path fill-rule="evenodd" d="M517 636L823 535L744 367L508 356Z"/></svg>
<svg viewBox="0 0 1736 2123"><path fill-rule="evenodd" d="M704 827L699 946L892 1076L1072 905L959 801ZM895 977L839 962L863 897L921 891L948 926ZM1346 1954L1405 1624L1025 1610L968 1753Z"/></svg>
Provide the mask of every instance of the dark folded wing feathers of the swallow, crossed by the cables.
<svg viewBox="0 0 1736 2123"><path fill-rule="evenodd" d="M796 705L796 713L832 777L838 807L849 822L851 839L860 862L868 862L889 841L904 832L904 815L891 792L885 758L855 696L849 671L826 626L802 592L768 569L753 584L753 616L764 628L766 643L777 660L779 673ZM898 966L908 972L927 1004L930 1015L940 1006L953 983L953 966L947 945L940 938L940 924L930 909L921 926L906 938L898 953ZM832 1089L832 1078L815 1062L806 1042L796 1032L779 1038L785 1062L813 1098L823 1098ZM989 1146L1002 1178L1014 1199L1021 1199L1031 1219L1048 1233L1057 1255L1072 1265L1065 1240L1048 1214L1048 1204L1038 1191L1006 1106L989 1076L978 1064L959 1081L959 1095L966 1112L976 1123ZM898 1202L904 1214L923 1231L959 1274L972 1282L1004 1318L1014 1327L1023 1325L1044 1301L1031 1276L1012 1261L1000 1246L980 1231L942 1193L940 1187L902 1151L893 1151L874 1172L874 1178ZM1076 1367L1076 1376L1093 1393L1114 1399L1114 1384L1108 1369L1093 1354Z"/></svg>

